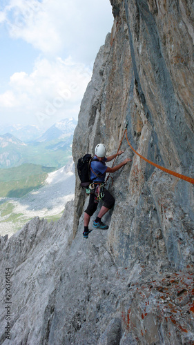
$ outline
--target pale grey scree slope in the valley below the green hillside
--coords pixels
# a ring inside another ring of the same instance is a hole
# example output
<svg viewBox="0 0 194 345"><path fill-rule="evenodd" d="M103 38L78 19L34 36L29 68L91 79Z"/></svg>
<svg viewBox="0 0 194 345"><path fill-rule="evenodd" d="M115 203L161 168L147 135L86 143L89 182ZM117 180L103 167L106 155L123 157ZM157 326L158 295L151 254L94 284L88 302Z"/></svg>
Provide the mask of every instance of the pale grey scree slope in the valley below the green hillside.
<svg viewBox="0 0 194 345"><path fill-rule="evenodd" d="M12 213L1 217L0 221L0 235L13 235L17 229L23 226L23 220L26 222L34 217L55 217L64 211L65 205L68 201L74 199L75 195L75 173L72 158L70 162L56 170L50 172L45 184L39 190L32 190L24 197L19 199L1 198L1 204L9 201L12 204ZM6 221L18 215L18 219Z"/></svg>

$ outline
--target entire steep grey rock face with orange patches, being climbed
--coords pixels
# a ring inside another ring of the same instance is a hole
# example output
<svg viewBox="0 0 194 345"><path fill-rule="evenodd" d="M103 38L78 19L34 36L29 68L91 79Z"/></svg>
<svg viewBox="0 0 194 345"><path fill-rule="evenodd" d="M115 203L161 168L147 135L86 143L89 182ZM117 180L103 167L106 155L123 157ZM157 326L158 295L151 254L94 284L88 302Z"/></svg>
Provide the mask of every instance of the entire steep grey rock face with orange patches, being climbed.
<svg viewBox="0 0 194 345"><path fill-rule="evenodd" d="M194 177L193 2L110 2L115 23L81 103L75 164L99 142L117 152L128 121L137 152ZM4 326L12 272L11 340L2 328L1 344L193 344L193 184L147 164L126 139L122 149L117 163L133 161L109 183L108 230L82 238L88 199L77 179L74 210L1 238Z"/></svg>

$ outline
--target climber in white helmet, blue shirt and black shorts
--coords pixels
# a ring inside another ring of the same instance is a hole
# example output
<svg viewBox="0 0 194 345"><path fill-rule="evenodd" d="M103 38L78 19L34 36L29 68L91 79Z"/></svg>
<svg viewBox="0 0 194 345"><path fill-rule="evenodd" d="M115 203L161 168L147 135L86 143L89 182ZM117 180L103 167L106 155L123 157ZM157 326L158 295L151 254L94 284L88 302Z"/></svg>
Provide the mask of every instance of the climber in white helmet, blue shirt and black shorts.
<svg viewBox="0 0 194 345"><path fill-rule="evenodd" d="M112 161L117 157L117 155L122 155L124 151L117 152L116 155L112 155L110 157L106 156L106 146L104 144L98 144L95 147L95 157L93 157L91 163L90 163L90 179L95 184L95 194L90 194L90 199L88 203L88 207L85 210L84 213L84 237L88 238L88 234L90 233L90 230L88 229L88 225L90 222L90 217L95 213L97 210L97 205L99 199L104 201L104 206L101 206L101 209L99 210L99 214L97 215L97 218L93 222L94 228L99 229L108 229L108 226L104 224L101 221L101 217L103 217L110 208L113 208L115 204L114 197L108 192L106 188L104 188L104 180L106 176L106 172L115 172L122 168L125 164L128 163L128 161L131 161L130 158L126 158L122 163L118 164L117 166L114 166L113 168L109 168L106 166L106 162ZM96 197L97 196L97 197Z"/></svg>

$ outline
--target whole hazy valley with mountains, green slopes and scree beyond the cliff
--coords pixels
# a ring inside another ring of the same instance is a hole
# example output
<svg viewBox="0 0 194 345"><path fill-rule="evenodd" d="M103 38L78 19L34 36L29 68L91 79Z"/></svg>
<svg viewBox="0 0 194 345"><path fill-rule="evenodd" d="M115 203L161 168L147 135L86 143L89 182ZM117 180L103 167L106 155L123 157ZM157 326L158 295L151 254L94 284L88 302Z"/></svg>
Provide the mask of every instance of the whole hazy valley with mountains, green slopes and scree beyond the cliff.
<svg viewBox="0 0 194 345"><path fill-rule="evenodd" d="M46 132L37 126L0 128L0 235L12 235L36 216L49 221L61 217L74 197L76 124L64 119Z"/></svg>

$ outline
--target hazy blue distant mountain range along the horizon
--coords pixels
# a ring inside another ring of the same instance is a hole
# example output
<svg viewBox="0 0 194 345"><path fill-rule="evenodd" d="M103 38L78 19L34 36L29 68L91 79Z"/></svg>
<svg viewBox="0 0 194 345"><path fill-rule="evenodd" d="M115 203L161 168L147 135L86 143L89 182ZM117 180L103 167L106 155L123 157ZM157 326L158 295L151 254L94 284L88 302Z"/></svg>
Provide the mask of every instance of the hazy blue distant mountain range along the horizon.
<svg viewBox="0 0 194 345"><path fill-rule="evenodd" d="M37 126L0 128L0 168L41 164L60 168L71 156L75 119L64 119L43 132ZM9 130L10 132L6 132Z"/></svg>

